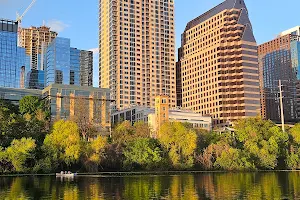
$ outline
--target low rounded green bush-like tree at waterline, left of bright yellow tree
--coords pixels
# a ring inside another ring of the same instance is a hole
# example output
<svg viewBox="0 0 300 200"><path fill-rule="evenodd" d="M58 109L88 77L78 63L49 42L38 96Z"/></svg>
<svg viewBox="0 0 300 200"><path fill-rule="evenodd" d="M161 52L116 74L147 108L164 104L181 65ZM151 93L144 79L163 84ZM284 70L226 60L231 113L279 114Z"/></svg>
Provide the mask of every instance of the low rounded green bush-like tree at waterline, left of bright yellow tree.
<svg viewBox="0 0 300 200"><path fill-rule="evenodd" d="M155 139L138 138L124 150L127 168L154 169L163 161L162 150Z"/></svg>

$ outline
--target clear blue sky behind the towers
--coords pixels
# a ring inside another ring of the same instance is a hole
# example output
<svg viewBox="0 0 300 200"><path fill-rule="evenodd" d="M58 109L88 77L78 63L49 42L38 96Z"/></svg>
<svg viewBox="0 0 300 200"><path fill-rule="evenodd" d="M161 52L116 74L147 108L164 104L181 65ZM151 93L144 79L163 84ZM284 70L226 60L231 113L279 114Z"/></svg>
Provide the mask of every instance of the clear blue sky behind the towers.
<svg viewBox="0 0 300 200"><path fill-rule="evenodd" d="M175 0L176 47L187 22L223 0ZM258 44L300 25L299 0L245 0ZM31 0L0 0L0 18L16 19ZM94 50L94 86L98 86L98 0L37 0L23 18L22 26L45 23L71 39L71 46Z"/></svg>

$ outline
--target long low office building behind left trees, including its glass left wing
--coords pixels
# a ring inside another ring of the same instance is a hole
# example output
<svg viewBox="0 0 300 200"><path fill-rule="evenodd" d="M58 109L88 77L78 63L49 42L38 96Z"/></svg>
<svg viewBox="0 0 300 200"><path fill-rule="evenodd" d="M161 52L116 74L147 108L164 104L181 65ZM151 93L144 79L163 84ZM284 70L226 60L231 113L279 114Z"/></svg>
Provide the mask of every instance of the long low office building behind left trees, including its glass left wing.
<svg viewBox="0 0 300 200"><path fill-rule="evenodd" d="M0 100L18 104L24 96L37 96L49 106L52 122L71 119L79 110L84 110L81 115L93 122L102 134L108 135L111 128L109 93L109 89L62 84L52 84L43 90L0 87Z"/></svg>

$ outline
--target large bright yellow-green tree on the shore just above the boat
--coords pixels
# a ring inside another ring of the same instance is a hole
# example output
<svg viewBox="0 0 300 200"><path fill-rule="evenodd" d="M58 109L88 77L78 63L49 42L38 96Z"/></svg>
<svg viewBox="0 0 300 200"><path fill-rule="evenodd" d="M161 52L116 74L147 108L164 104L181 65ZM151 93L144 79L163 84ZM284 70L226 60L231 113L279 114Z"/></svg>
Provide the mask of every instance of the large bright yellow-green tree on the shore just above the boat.
<svg viewBox="0 0 300 200"><path fill-rule="evenodd" d="M80 135L75 122L60 120L54 123L53 130L44 141L43 150L54 166L76 163L80 157Z"/></svg>

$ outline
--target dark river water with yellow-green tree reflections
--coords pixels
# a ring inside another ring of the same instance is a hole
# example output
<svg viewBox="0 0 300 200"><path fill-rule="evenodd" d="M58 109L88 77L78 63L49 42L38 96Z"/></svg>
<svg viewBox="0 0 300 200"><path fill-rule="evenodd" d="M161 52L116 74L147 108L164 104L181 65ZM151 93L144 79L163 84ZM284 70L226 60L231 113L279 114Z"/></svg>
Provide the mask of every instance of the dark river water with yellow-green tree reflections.
<svg viewBox="0 0 300 200"><path fill-rule="evenodd" d="M300 199L300 172L0 177L0 199Z"/></svg>

